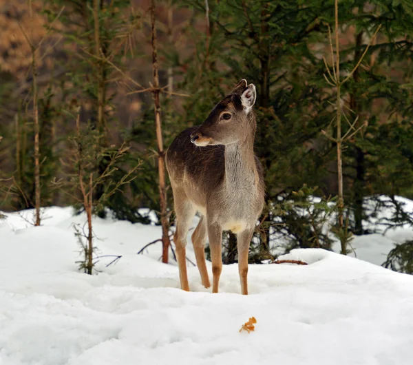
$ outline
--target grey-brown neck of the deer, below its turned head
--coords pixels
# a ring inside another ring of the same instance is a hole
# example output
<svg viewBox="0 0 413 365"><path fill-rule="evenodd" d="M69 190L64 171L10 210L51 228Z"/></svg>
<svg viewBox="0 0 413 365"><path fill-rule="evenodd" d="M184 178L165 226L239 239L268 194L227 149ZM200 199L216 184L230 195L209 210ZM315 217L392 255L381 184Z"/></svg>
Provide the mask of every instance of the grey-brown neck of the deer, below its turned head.
<svg viewBox="0 0 413 365"><path fill-rule="evenodd" d="M225 146L225 185L229 190L252 189L257 174L254 136Z"/></svg>

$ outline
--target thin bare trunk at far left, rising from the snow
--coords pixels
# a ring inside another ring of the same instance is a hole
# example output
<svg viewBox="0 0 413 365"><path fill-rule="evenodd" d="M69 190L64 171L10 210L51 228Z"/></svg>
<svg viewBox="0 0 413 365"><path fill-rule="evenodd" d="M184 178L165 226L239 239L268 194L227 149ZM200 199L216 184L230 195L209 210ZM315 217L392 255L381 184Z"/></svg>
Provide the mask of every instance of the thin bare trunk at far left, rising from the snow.
<svg viewBox="0 0 413 365"><path fill-rule="evenodd" d="M36 210L35 226L40 225L40 165L39 165L39 106L37 104L36 50L32 46L33 73L33 116L34 116L34 207Z"/></svg>

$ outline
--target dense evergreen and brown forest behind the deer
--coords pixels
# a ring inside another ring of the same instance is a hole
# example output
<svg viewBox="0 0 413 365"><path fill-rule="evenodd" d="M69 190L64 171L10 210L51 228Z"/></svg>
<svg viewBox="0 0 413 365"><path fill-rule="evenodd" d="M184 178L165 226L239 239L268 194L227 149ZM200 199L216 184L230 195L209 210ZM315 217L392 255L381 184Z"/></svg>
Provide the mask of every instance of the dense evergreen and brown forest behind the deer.
<svg viewBox="0 0 413 365"><path fill-rule="evenodd" d="M413 198L413 1L342 0L338 19L339 58L332 0L0 0L0 209L150 224L149 208L167 246L163 149L244 78L266 178L251 262L335 240L346 254L383 205L383 224L413 225L397 198ZM412 253L385 266L413 273ZM237 260L228 233L223 255Z"/></svg>

